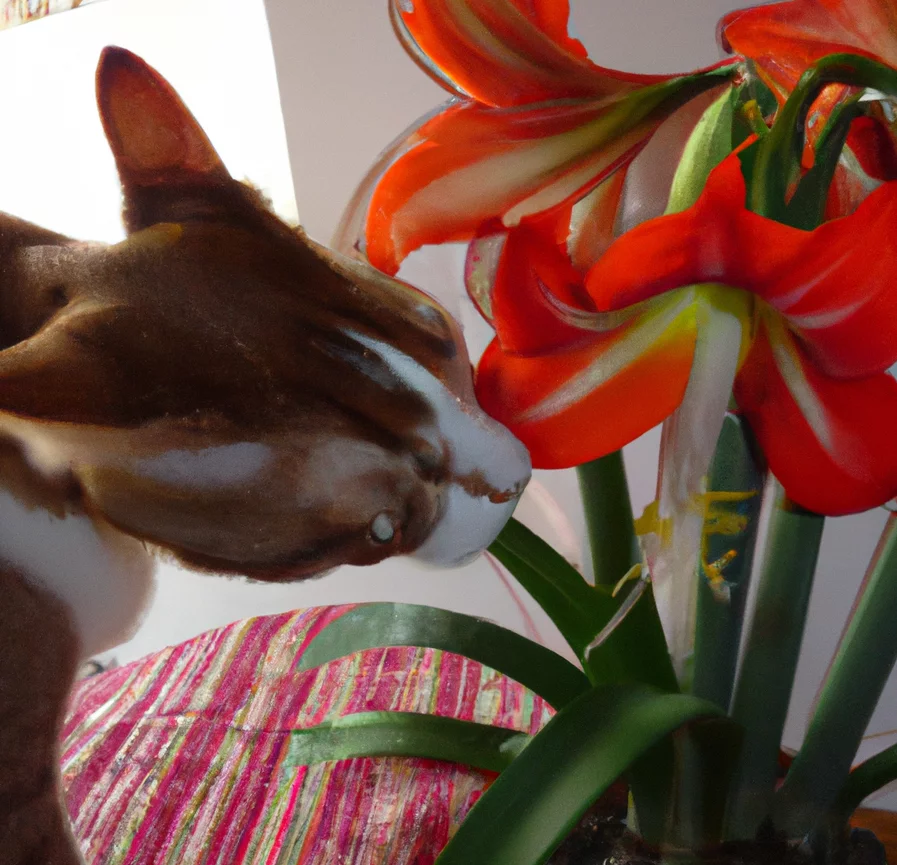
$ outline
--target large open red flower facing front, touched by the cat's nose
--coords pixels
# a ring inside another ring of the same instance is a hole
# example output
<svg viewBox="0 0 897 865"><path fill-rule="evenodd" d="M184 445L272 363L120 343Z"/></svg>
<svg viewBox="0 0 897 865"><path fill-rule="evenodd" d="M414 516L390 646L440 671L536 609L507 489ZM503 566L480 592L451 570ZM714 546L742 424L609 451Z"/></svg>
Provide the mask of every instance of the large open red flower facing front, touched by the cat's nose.
<svg viewBox="0 0 897 865"><path fill-rule="evenodd" d="M897 361L897 184L811 232L744 201L732 156L692 208L613 243L588 274L587 298L557 247L507 257L477 389L534 465L620 447L703 377L689 408L697 417L711 392L728 398L734 376L739 407L795 501L840 514L897 493L897 382L887 372ZM703 356L721 327L728 336Z"/></svg>

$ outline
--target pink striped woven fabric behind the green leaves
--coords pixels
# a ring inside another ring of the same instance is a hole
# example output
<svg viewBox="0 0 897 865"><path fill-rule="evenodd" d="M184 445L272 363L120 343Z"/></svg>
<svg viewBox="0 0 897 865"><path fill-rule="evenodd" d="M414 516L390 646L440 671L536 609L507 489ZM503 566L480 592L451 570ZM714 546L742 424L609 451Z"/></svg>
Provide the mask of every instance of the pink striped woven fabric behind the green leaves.
<svg viewBox="0 0 897 865"><path fill-rule="evenodd" d="M432 760L292 765L290 731L375 710L536 732L551 709L480 664L374 649L299 672L349 607L236 622L87 679L63 783L91 865L429 865L488 785Z"/></svg>

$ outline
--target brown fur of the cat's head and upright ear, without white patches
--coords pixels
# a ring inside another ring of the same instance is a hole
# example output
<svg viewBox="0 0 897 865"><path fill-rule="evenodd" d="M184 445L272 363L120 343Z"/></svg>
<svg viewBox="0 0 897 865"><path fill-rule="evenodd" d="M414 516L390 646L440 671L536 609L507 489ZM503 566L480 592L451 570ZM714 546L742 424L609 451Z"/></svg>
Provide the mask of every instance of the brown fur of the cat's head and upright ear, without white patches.
<svg viewBox="0 0 897 865"><path fill-rule="evenodd" d="M364 342L478 411L463 340L435 301L279 220L139 58L106 49L97 88L131 234L87 245L0 215L0 429L48 442L123 531L259 579L413 552L449 483L519 494L452 476L457 443L421 432L435 429L428 395ZM352 494L297 497L323 486L332 442ZM246 443L270 466L238 489L141 473L173 449ZM372 537L378 515L391 541Z"/></svg>

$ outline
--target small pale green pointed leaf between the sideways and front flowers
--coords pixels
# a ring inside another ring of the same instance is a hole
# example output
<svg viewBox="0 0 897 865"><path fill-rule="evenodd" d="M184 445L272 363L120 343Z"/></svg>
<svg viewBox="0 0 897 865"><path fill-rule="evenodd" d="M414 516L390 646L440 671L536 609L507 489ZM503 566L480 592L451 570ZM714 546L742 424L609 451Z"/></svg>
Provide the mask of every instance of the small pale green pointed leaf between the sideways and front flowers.
<svg viewBox="0 0 897 865"><path fill-rule="evenodd" d="M736 92L728 88L695 126L673 177L667 213L691 207L700 197L710 172L732 152Z"/></svg>

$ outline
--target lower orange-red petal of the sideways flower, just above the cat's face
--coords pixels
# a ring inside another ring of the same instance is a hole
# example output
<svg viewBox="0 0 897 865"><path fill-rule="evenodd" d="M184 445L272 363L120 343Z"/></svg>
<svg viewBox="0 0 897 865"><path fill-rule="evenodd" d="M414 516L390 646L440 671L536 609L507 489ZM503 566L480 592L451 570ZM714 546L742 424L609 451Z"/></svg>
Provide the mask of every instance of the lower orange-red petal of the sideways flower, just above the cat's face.
<svg viewBox="0 0 897 865"><path fill-rule="evenodd" d="M627 101L453 106L421 127L419 143L381 179L368 257L395 273L424 244L469 240L489 223L513 226L575 200L632 159L664 113L659 106L633 121Z"/></svg>

